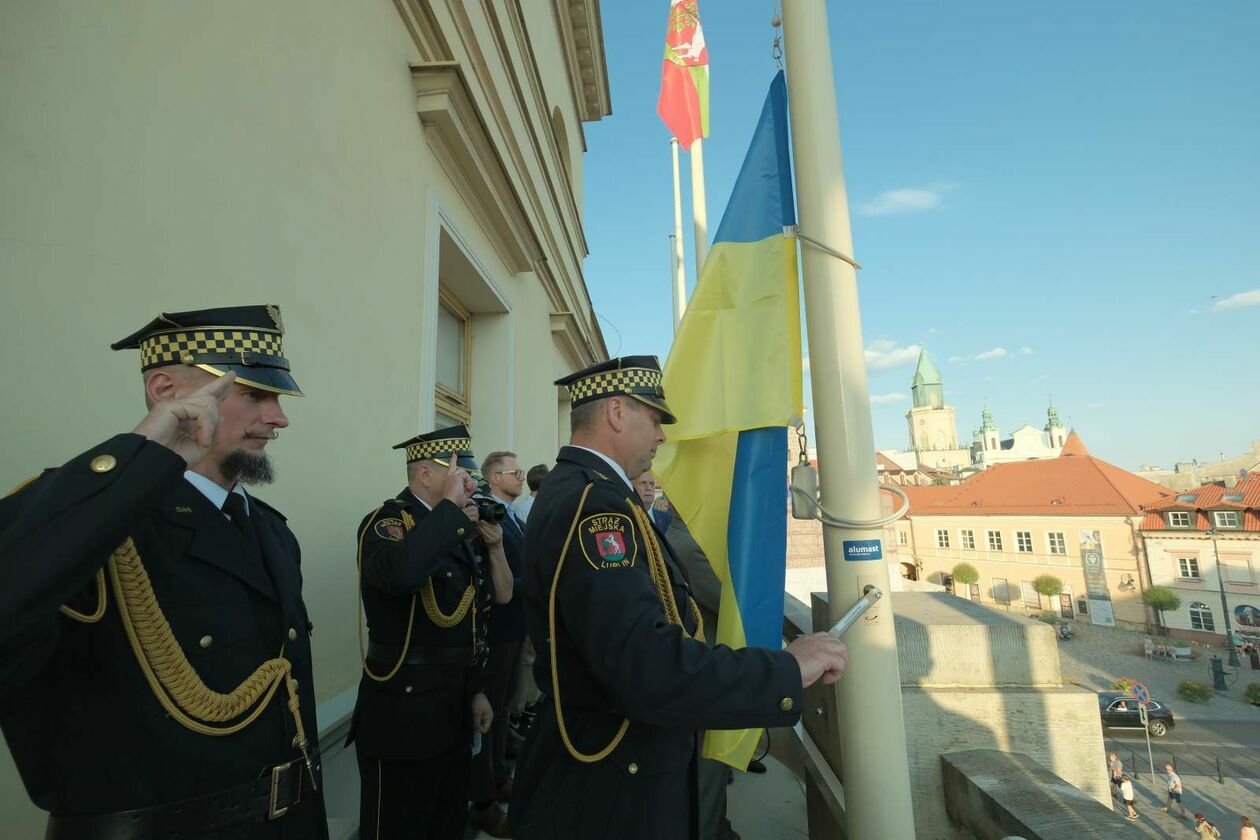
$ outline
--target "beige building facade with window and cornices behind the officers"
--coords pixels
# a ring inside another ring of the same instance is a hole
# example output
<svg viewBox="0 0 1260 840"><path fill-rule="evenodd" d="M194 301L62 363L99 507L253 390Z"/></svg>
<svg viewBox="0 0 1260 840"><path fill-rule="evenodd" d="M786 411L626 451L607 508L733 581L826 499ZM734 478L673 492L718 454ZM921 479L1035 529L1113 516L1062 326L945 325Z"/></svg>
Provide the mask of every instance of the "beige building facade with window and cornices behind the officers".
<svg viewBox="0 0 1260 840"><path fill-rule="evenodd" d="M5 4L0 54L0 480L135 427L139 359L111 341L278 305L306 397L258 495L302 545L328 732L360 671L355 526L406 481L391 446L460 421L551 463L553 379L606 358L582 273L598 4L48 0ZM0 814L39 836L3 751Z"/></svg>

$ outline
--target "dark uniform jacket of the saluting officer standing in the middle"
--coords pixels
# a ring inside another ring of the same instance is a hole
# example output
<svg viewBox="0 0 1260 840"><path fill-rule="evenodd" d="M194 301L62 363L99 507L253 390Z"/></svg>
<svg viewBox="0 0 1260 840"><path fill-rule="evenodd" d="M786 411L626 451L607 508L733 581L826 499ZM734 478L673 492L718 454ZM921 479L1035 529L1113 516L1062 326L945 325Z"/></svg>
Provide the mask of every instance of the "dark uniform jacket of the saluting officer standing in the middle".
<svg viewBox="0 0 1260 840"><path fill-rule="evenodd" d="M359 525L360 587L368 620L368 667L384 676L407 640L408 656L425 664L403 664L386 681L364 674L346 743L358 742L363 758L416 761L431 758L472 737L470 701L483 690L485 621L490 587L469 545L475 525L454 502L428 510L408 489L364 518ZM478 588L472 606L450 628L438 627L422 602L432 581L438 610L451 616L469 586ZM479 584L481 581L481 584Z"/></svg>

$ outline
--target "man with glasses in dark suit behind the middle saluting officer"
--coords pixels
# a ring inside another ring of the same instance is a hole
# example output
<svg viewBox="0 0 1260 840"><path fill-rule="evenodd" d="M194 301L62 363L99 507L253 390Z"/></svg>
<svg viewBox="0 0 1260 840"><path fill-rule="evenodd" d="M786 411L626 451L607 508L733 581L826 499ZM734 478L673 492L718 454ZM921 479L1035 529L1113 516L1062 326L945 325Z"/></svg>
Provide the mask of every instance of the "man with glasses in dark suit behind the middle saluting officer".
<svg viewBox="0 0 1260 840"><path fill-rule="evenodd" d="M512 775L508 769L508 700L515 690L517 664L525 640L525 613L520 604L520 587L524 586L523 553L525 526L517 516L512 502L524 490L525 474L515 452L491 452L481 462L485 490L478 492L479 501L494 505L503 525L503 548L508 568L513 576L513 599L495 607L490 615L490 660L486 665L486 695L494 709L494 723L485 741L485 748L472 759L472 825L493 837L510 836L507 815L496 802L512 798ZM488 511L489 513L489 511ZM483 516L485 519L485 516Z"/></svg>

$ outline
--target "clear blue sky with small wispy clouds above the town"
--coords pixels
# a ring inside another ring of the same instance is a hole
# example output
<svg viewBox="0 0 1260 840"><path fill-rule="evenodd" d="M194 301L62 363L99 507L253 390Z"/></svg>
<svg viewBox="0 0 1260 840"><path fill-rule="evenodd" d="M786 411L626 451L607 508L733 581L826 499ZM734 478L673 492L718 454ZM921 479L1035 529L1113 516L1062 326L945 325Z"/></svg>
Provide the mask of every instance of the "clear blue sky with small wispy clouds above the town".
<svg viewBox="0 0 1260 840"><path fill-rule="evenodd" d="M1050 395L1129 468L1260 438L1260 4L828 5L876 445L907 446L911 345L965 443L985 398L1008 433ZM586 126L586 277L609 350L664 359L668 3L601 8L614 113ZM771 10L701 0L711 230L775 72Z"/></svg>

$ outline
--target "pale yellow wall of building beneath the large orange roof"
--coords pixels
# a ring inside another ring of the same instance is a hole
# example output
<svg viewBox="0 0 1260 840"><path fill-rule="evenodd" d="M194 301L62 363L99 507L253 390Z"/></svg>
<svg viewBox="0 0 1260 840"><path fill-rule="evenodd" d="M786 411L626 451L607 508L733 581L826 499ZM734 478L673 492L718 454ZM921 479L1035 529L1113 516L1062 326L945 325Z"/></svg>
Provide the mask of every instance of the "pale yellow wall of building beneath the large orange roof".
<svg viewBox="0 0 1260 840"><path fill-rule="evenodd" d="M1116 622L1144 626L1145 612L1140 598L1138 562L1140 544L1135 536L1135 523L1124 516L926 516L912 515L897 523L898 543L902 552L914 555L921 567L922 579L940 583L942 574L953 573L959 563L970 563L980 572L980 603L1002 608L993 593L994 578L1004 578L1009 586L1013 611L1031 611L1023 603L1021 591L1023 582L1032 582L1040 574L1053 574L1063 582L1065 592L1072 594L1072 610L1076 602L1086 597L1085 570L1081 563L1081 531L1099 531L1102 543L1102 567L1108 588L1111 593ZM945 529L950 536L949 548L939 548L937 529ZM971 530L975 534L975 549L964 549L960 531ZM1002 534L1002 550L988 548L987 531ZM1017 550L1016 531L1032 534L1032 552ZM1051 554L1051 531L1062 533L1066 554ZM905 538L901 536L905 534ZM959 592L963 587L959 586ZM1051 603L1041 598L1042 610L1058 612L1058 602ZM1077 613L1079 620L1086 616Z"/></svg>

